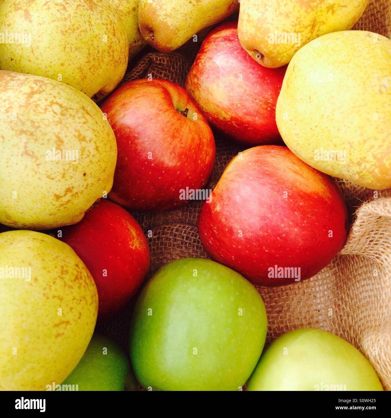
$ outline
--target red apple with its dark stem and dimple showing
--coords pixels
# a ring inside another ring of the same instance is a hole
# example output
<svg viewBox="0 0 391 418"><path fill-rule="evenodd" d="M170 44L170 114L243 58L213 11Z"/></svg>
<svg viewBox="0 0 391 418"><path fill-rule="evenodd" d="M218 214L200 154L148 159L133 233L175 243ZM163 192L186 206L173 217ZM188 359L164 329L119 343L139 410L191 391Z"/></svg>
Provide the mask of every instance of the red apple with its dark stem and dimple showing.
<svg viewBox="0 0 391 418"><path fill-rule="evenodd" d="M185 89L166 80L135 80L116 90L102 111L118 146L111 200L128 209L172 209L187 203L182 190L207 183L215 140Z"/></svg>

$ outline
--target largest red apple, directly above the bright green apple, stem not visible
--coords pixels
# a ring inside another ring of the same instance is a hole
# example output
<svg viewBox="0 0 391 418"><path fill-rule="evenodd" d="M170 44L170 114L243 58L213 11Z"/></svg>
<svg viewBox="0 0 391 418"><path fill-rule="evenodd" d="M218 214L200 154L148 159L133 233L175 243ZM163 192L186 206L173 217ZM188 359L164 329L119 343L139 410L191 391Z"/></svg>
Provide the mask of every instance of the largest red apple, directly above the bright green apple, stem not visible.
<svg viewBox="0 0 391 418"><path fill-rule="evenodd" d="M331 177L286 147L263 145L229 163L198 228L212 258L253 283L275 286L322 270L342 248L347 223Z"/></svg>

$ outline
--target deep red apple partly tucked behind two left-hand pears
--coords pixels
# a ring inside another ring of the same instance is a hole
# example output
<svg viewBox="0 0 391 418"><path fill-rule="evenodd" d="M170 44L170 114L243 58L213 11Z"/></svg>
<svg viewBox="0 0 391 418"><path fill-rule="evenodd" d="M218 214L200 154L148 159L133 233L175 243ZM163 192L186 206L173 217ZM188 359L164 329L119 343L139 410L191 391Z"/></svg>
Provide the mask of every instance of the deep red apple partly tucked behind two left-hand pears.
<svg viewBox="0 0 391 418"><path fill-rule="evenodd" d="M140 225L121 206L106 199L74 225L52 230L87 266L98 291L98 319L112 316L141 287L150 255Z"/></svg>

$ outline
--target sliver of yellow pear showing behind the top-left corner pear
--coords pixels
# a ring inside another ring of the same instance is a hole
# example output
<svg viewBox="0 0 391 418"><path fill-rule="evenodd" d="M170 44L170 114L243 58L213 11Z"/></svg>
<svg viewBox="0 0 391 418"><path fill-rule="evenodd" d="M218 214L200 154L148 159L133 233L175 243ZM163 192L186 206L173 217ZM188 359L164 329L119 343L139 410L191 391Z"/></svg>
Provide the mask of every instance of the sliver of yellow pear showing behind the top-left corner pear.
<svg viewBox="0 0 391 418"><path fill-rule="evenodd" d="M138 27L138 3L140 0L107 0L117 10L129 41L129 60L146 46L146 41Z"/></svg>

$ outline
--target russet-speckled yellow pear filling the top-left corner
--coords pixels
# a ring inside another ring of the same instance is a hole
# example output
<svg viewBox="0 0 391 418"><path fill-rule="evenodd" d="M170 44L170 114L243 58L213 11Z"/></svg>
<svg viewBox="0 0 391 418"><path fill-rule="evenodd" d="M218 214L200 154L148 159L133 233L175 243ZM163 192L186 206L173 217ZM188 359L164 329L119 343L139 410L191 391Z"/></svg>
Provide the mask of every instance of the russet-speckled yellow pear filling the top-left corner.
<svg viewBox="0 0 391 418"><path fill-rule="evenodd" d="M0 0L0 69L49 77L99 100L127 64L125 26L106 0Z"/></svg>

